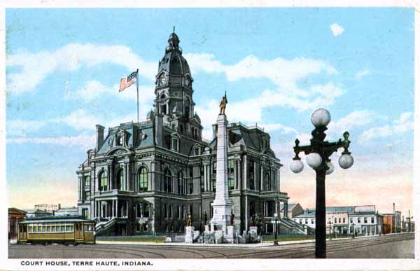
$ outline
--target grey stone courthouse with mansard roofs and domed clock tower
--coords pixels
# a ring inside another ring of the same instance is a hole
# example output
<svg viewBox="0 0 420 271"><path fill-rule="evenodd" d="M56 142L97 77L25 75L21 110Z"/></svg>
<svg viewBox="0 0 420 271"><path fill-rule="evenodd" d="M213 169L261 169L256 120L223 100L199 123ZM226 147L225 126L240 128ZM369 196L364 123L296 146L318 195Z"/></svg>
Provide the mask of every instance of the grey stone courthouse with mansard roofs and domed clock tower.
<svg viewBox="0 0 420 271"><path fill-rule="evenodd" d="M78 212L97 219L99 234L183 232L188 214L198 230L210 221L217 131L213 125L213 138L202 137L193 85L179 37L172 33L158 65L155 101L146 120L107 131L96 126L96 146L77 171ZM270 232L269 221L279 214L280 204L288 213L288 195L280 192L281 162L270 148L270 136L256 125L230 123L228 141L235 228L247 230L258 214L266 218L262 228Z"/></svg>

